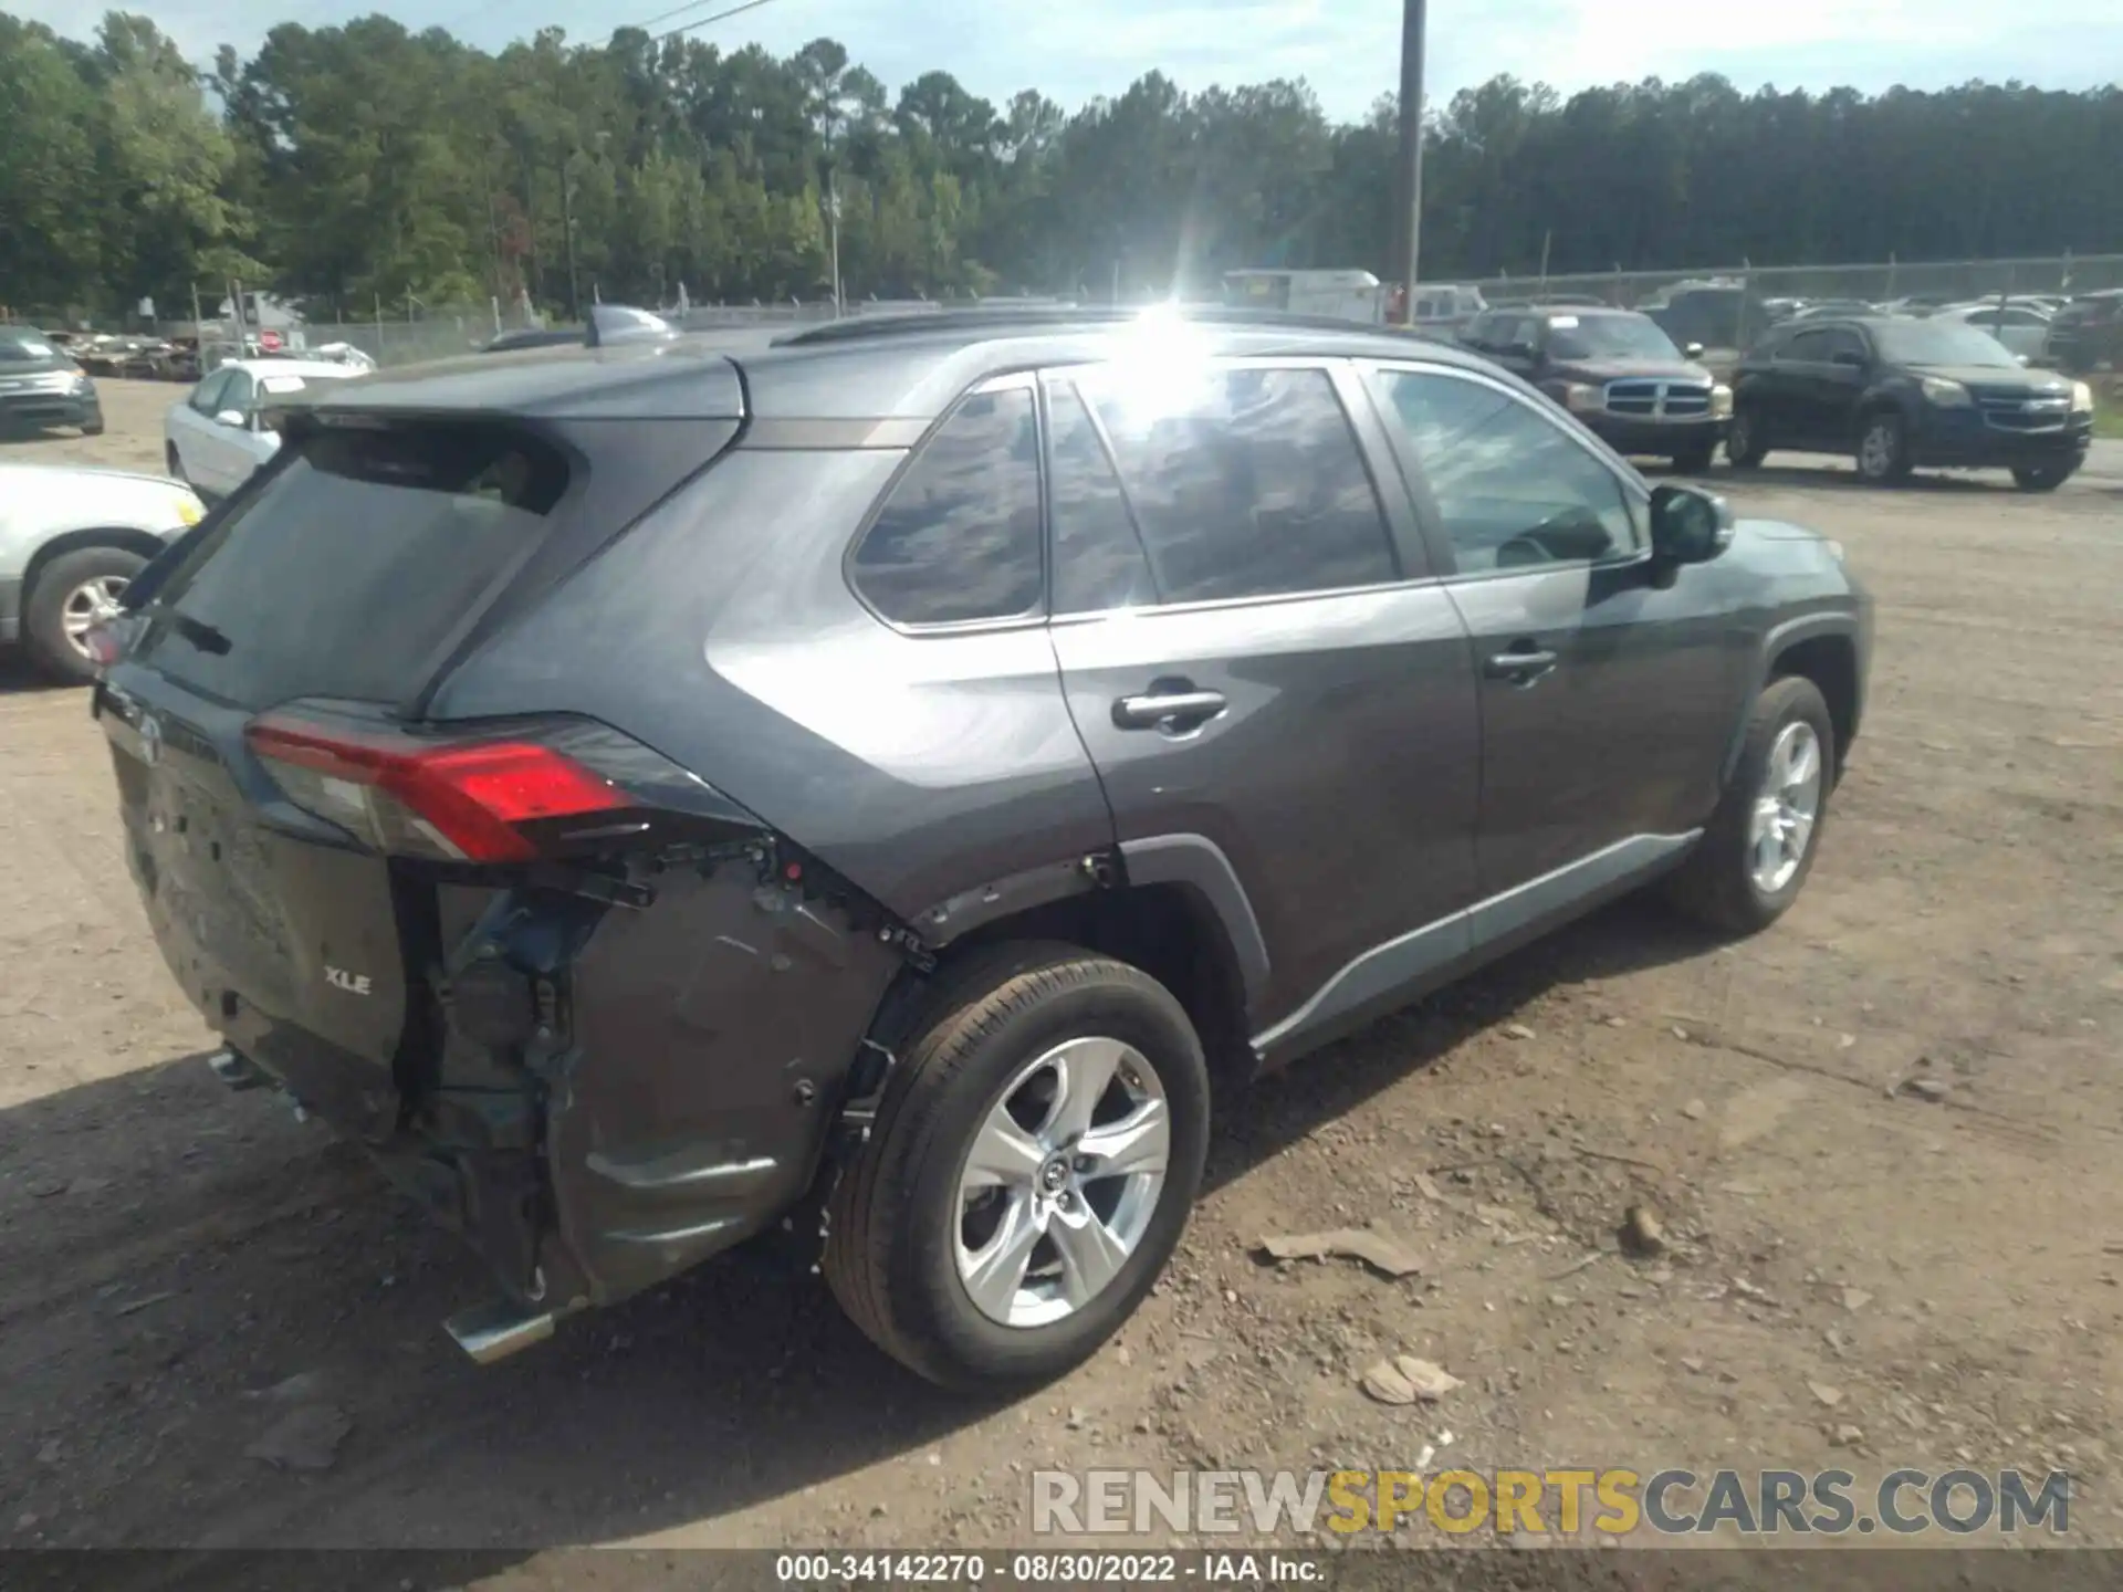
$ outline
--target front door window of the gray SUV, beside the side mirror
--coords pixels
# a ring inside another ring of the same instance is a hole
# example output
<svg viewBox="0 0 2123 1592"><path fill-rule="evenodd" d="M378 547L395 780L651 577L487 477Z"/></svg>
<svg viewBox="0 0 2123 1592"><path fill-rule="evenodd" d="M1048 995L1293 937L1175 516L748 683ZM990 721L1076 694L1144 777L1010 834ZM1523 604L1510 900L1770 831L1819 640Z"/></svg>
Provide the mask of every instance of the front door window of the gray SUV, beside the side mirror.
<svg viewBox="0 0 2123 1592"><path fill-rule="evenodd" d="M1461 573L1637 550L1622 482L1526 403L1459 376L1386 374Z"/></svg>

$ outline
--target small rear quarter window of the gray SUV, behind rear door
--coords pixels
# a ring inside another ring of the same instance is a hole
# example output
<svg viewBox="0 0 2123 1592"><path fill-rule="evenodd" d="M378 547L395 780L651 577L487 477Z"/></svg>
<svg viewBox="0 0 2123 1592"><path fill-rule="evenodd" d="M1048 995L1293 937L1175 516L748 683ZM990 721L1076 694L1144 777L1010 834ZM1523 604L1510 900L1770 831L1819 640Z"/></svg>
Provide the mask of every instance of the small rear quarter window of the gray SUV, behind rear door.
<svg viewBox="0 0 2123 1592"><path fill-rule="evenodd" d="M951 412L856 550L856 586L900 624L1004 620L1038 607L1030 388L974 393Z"/></svg>

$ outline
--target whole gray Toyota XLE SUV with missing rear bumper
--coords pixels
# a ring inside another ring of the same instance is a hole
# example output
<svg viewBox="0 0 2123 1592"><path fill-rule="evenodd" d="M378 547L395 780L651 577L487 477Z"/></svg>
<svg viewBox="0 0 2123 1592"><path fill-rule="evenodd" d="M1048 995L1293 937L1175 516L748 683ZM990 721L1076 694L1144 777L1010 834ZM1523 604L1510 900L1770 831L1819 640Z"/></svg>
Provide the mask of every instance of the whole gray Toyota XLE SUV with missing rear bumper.
<svg viewBox="0 0 2123 1592"><path fill-rule="evenodd" d="M1771 923L1870 637L1480 357L1244 312L363 378L127 601L170 970L484 1254L467 1350L794 1227L951 1386L1127 1318L1214 1074L1654 881Z"/></svg>

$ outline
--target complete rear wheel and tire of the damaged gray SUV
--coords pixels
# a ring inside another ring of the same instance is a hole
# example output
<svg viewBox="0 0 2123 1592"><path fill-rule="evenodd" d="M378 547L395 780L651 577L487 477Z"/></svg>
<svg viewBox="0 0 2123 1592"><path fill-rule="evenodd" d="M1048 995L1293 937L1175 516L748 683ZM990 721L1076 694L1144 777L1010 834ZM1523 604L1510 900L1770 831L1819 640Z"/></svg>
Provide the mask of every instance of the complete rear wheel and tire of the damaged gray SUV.
<svg viewBox="0 0 2123 1592"><path fill-rule="evenodd" d="M1208 1104L1202 1042L1163 985L1076 947L1002 947L900 1051L832 1193L826 1284L930 1382L1051 1382L1178 1246Z"/></svg>

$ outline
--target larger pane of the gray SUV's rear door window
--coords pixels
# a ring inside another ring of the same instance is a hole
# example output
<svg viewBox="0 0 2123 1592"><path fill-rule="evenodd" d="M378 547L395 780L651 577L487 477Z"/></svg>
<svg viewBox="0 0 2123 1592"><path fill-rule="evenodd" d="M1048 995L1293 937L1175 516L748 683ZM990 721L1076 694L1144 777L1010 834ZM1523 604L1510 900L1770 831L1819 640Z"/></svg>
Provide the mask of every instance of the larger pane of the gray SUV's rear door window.
<svg viewBox="0 0 2123 1592"><path fill-rule="evenodd" d="M1098 410L1168 603L1397 577L1386 520L1323 369L1098 371Z"/></svg>

